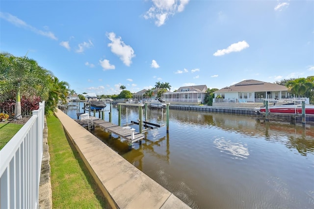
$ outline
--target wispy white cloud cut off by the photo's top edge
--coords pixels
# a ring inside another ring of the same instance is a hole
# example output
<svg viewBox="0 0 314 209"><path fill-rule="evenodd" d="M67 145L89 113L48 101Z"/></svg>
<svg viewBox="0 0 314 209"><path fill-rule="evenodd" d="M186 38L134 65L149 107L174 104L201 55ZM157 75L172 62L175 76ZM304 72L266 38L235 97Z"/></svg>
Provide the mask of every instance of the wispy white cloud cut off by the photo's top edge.
<svg viewBox="0 0 314 209"><path fill-rule="evenodd" d="M153 5L145 13L146 20L155 20L156 26L165 24L168 17L182 12L189 0L152 0Z"/></svg>

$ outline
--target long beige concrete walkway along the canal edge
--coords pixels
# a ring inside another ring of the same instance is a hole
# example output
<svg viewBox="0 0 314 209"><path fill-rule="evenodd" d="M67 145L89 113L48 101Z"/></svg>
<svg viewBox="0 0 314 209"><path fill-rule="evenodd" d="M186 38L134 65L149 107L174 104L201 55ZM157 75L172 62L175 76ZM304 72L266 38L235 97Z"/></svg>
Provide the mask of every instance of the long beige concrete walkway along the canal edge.
<svg viewBox="0 0 314 209"><path fill-rule="evenodd" d="M189 208L64 112L57 109L55 115L112 208Z"/></svg>

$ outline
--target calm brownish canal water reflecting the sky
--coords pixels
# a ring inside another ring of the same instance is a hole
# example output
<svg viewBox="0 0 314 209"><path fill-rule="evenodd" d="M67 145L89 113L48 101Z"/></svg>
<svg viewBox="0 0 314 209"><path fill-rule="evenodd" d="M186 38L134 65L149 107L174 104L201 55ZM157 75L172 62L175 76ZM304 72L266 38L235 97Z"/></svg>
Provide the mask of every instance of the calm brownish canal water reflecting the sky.
<svg viewBox="0 0 314 209"><path fill-rule="evenodd" d="M67 114L77 118L75 109ZM148 120L161 123L161 115L149 110ZM112 119L118 123L116 107ZM128 123L137 119L138 109L128 108ZM127 123L126 109L121 121ZM94 134L191 208L314 208L313 127L172 109L169 125L168 134L166 127L148 131L131 151L116 135Z"/></svg>

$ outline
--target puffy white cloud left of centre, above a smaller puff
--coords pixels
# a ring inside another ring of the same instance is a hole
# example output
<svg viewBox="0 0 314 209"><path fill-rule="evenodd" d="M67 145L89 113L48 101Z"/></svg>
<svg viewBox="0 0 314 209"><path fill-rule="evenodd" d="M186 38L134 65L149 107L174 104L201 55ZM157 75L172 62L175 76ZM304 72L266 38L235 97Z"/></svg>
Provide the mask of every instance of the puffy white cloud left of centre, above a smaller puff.
<svg viewBox="0 0 314 209"><path fill-rule="evenodd" d="M121 40L121 37L116 37L116 34L113 32L107 33L106 35L111 41L111 43L108 44L108 47L111 48L111 52L119 56L126 66L130 66L132 58L135 56L132 47L126 45Z"/></svg>

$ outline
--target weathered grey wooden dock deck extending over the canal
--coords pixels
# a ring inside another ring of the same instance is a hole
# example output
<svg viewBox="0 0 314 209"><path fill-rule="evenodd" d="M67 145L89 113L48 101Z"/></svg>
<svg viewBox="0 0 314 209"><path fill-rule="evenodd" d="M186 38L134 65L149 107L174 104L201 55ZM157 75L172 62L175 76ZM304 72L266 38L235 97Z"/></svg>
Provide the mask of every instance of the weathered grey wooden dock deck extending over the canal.
<svg viewBox="0 0 314 209"><path fill-rule="evenodd" d="M100 126L106 131L114 133L120 136L121 138L128 140L131 143L145 138L145 135L142 133L132 131L126 127L121 127L121 126L112 124L110 122L104 121L104 120L95 120L93 122L94 122L94 125ZM134 132L134 137L132 137L132 132Z"/></svg>

